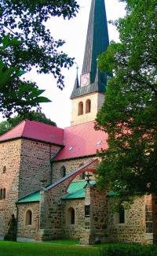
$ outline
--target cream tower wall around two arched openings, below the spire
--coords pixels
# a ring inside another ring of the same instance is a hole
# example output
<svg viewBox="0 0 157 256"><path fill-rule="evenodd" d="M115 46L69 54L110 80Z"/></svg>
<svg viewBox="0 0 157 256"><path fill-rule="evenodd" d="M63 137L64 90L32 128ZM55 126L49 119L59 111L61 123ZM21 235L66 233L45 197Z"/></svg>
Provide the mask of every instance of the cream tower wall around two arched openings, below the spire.
<svg viewBox="0 0 157 256"><path fill-rule="evenodd" d="M91 101L90 113L86 113L86 100ZM83 102L83 114L78 115L79 102ZM104 103L104 95L93 93L82 97L72 99L71 125L83 124L88 121L94 121L97 116L97 111Z"/></svg>

